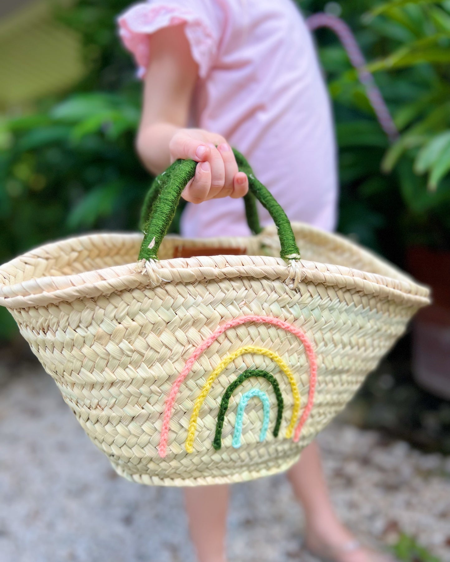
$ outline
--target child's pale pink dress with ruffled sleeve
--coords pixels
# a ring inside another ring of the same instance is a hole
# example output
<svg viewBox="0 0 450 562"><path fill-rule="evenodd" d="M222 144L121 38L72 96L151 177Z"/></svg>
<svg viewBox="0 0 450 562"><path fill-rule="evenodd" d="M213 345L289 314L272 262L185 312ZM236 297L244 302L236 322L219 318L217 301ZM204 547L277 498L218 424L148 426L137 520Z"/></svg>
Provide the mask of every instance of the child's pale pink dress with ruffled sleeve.
<svg viewBox="0 0 450 562"><path fill-rule="evenodd" d="M310 33L292 0L149 0L119 17L139 75L148 36L184 24L198 63L192 125L223 135L291 220L332 230L337 166L330 103ZM260 207L263 225L269 214ZM183 235L249 233L243 201L188 204Z"/></svg>

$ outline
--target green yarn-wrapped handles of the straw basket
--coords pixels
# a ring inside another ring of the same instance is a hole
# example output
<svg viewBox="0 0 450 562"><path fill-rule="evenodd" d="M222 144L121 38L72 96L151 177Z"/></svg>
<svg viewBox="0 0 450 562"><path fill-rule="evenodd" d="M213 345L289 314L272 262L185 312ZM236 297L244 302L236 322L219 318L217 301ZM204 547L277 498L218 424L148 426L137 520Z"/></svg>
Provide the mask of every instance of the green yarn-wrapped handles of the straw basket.
<svg viewBox="0 0 450 562"><path fill-rule="evenodd" d="M239 171L243 171L248 177L250 196L245 199L245 202L249 226L253 232L261 230L256 214L254 200L256 197L261 205L269 211L278 229L281 246L280 256L285 260L299 260L300 252L296 244L296 238L285 212L267 188L254 177L253 170L246 158L236 149L233 149L233 152ZM197 162L193 160L177 160L154 180L143 206L143 216L149 215L149 217L143 228L144 239L140 247L139 260L158 259L160 244L174 218L176 206L185 185L196 173L196 166Z"/></svg>

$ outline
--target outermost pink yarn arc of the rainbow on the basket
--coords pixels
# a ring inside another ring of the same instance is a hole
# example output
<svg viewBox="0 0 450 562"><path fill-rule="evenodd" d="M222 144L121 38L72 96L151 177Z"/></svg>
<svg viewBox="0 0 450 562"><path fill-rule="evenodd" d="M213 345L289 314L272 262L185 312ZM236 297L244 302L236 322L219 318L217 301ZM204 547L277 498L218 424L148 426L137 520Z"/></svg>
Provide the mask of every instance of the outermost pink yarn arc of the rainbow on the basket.
<svg viewBox="0 0 450 562"><path fill-rule="evenodd" d="M305 336L303 331L300 328L296 328L292 324L288 324L287 322L280 320L279 318L272 318L271 316L241 316L240 318L235 318L233 320L229 320L227 323L223 324L215 332L211 334L211 336L207 337L196 349L192 352L189 359L186 361L184 369L178 375L178 378L175 380L172 388L170 390L169 396L167 396L166 400L166 407L164 411L164 418L162 422L162 429L161 429L161 438L160 438L160 446L158 447L158 453L160 457L165 457L167 452L167 439L169 438L169 425L170 419L172 416L172 410L175 405L176 396L178 395L178 391L183 384L184 379L189 374L189 371L192 369L194 362L197 361L198 357L202 355L204 351L211 346L213 342L223 334L229 328L234 328L241 324L246 324L247 322L254 322L257 324L272 324L277 326L278 328L282 328L297 336L298 339L303 343L304 350L308 357L308 362L310 364L310 390L308 392L308 401L306 404L305 409L303 410L303 414L298 422L296 430L294 432L294 441L297 442L300 438L300 433L305 424L308 416L311 413L312 405L314 401L314 393L316 390L316 382L317 382L317 361L316 355L311 345L309 339Z"/></svg>

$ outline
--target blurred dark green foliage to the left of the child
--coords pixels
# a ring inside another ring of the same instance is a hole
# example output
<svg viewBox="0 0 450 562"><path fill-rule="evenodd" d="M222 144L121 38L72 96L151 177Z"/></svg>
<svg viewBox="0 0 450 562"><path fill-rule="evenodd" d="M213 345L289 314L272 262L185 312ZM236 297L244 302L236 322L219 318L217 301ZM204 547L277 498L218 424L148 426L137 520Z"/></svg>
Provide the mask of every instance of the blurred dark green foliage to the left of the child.
<svg viewBox="0 0 450 562"><path fill-rule="evenodd" d="M92 229L135 230L151 183L134 150L140 84L117 38L128 0L79 0L57 17L78 30L88 72L74 92L0 120L0 262ZM0 340L15 333L0 309Z"/></svg>

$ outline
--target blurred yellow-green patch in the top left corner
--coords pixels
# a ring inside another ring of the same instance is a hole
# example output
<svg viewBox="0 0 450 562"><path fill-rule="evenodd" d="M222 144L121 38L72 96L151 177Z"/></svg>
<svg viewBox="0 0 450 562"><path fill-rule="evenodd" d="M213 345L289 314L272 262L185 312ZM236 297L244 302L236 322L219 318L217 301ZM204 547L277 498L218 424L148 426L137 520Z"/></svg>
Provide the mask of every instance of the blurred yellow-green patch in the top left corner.
<svg viewBox="0 0 450 562"><path fill-rule="evenodd" d="M80 39L54 20L54 6L50 0L0 1L0 110L68 88L83 76Z"/></svg>

